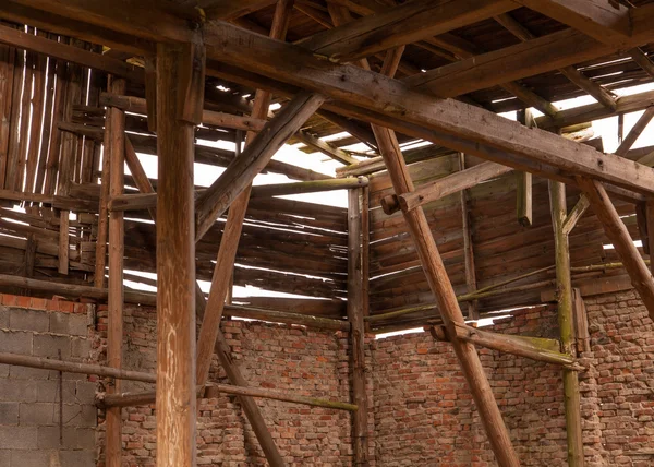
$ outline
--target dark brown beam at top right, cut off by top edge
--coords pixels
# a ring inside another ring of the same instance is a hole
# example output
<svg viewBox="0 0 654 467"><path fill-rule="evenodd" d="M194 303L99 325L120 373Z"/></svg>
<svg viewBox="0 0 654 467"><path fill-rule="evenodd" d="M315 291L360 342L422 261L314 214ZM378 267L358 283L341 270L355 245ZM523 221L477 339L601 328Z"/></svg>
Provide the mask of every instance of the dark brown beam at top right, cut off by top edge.
<svg viewBox="0 0 654 467"><path fill-rule="evenodd" d="M607 0L516 0L518 3L567 24L609 46L631 36L629 9Z"/></svg>

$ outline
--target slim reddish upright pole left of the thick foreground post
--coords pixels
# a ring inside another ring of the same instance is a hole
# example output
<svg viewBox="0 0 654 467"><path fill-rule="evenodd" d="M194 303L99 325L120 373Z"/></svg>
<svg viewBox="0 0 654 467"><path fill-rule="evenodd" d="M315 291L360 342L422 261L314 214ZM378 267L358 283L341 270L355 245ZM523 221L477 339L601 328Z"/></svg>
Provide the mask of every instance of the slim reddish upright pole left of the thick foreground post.
<svg viewBox="0 0 654 467"><path fill-rule="evenodd" d="M125 93L125 80L112 79L110 88L112 93ZM125 153L125 113L117 108L108 111L110 120L108 128L108 146L105 157L109 165L109 194L118 196L123 192L124 183L124 153ZM124 221L123 213L112 211L109 217L109 324L107 330L107 363L109 367L122 367L123 340L123 258L124 258ZM104 261L102 261L104 264ZM102 266L102 276L105 274ZM114 380L113 387L108 392L121 391L121 381ZM122 452L122 422L121 408L107 409L107 467L121 467Z"/></svg>

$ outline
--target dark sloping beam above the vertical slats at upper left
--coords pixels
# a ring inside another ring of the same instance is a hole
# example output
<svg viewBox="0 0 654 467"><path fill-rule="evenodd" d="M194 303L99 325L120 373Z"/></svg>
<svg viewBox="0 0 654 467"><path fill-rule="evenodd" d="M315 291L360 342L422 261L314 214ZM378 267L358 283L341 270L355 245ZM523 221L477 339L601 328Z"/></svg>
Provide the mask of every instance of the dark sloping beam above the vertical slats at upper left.
<svg viewBox="0 0 654 467"><path fill-rule="evenodd" d="M27 34L14 29L13 27L0 25L0 43L77 63L94 70L105 71L136 83L143 82L143 71L124 61L116 60L111 57L106 57L101 53L95 53L78 47L69 46L63 43L58 43L57 40Z"/></svg>

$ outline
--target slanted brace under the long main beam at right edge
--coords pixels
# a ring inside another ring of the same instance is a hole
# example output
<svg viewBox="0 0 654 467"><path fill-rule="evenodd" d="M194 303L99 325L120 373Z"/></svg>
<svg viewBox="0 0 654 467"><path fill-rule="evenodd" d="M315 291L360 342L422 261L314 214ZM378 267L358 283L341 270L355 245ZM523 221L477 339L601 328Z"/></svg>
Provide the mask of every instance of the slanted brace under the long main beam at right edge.
<svg viewBox="0 0 654 467"><path fill-rule="evenodd" d="M654 279L652 273L633 244L631 236L606 194L606 190L598 181L588 178L579 177L578 183L589 197L591 208L602 223L606 236L622 259L625 268L631 278L631 284L640 294L650 316L654 318Z"/></svg>

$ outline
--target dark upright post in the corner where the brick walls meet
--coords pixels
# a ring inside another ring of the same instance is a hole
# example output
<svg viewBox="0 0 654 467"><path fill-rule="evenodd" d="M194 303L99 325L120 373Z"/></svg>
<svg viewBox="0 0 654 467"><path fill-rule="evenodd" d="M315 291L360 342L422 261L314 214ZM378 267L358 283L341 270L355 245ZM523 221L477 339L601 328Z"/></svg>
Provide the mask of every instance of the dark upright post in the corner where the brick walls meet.
<svg viewBox="0 0 654 467"><path fill-rule="evenodd" d="M350 366L353 415L352 442L354 465L367 466L367 394L365 391L365 330L363 323L363 264L361 244L361 205L359 189L348 191L348 320L350 321Z"/></svg>

